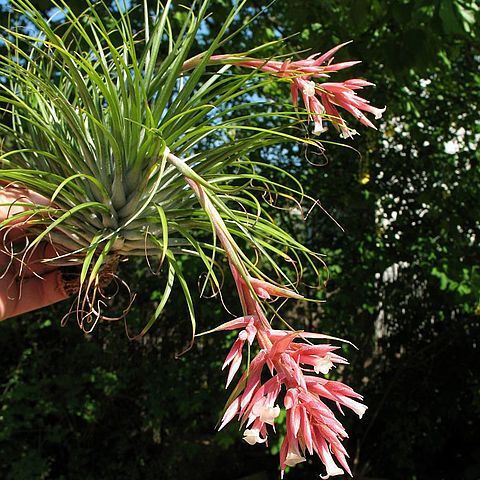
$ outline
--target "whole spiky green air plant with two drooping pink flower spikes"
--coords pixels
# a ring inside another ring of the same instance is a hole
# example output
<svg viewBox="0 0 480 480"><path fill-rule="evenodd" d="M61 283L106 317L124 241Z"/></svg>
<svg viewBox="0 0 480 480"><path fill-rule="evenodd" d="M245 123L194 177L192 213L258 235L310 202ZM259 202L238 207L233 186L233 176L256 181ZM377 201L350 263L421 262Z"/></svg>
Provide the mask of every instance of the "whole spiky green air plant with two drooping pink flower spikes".
<svg viewBox="0 0 480 480"><path fill-rule="evenodd" d="M78 268L71 313L86 331L108 318L107 285L120 282L121 262L155 258L166 270L166 284L140 334L160 316L177 279L192 338L194 305L178 258L200 258L208 282L219 291L216 265L224 256L242 308L238 318L215 329L240 330L224 365L227 385L242 365L245 344L254 348L256 340L259 348L220 427L238 417L246 442L266 443L283 403L282 476L308 452L320 457L327 478L350 473L341 443L347 434L327 402L360 417L366 407L351 388L325 378L333 366L347 362L338 347L314 341L340 339L272 326L281 319L267 300L302 299L297 291L302 269L308 265L318 272L321 258L276 225L262 201L265 191L288 201L309 199L302 186L286 172L290 186L279 185L269 175L279 167L249 155L282 142L321 150L320 137L298 133L302 124L313 123L317 135L330 124L351 137L355 131L340 108L368 127L374 125L366 114L379 117L383 110L357 95L371 83L329 81L356 63L334 63L342 45L297 61L261 58L265 46L219 53L236 33L230 29L243 4L234 6L198 53L207 1L185 10L179 31L171 22L171 1L159 3L155 12L145 4L141 29L132 25L129 12L112 13L101 2L79 15L66 2L55 3L64 16L57 29L28 0L11 2L30 25L12 25L1 37L8 52L0 59L0 102L8 120L1 128L8 141L0 151L0 180L45 201L29 202L19 214L28 216L33 234L25 247L2 248L24 262L42 241L58 246L58 255L48 261ZM289 84L293 106L265 101L260 108L262 89L272 82ZM9 229L15 220L13 215L0 228ZM289 279L286 262L298 278Z"/></svg>

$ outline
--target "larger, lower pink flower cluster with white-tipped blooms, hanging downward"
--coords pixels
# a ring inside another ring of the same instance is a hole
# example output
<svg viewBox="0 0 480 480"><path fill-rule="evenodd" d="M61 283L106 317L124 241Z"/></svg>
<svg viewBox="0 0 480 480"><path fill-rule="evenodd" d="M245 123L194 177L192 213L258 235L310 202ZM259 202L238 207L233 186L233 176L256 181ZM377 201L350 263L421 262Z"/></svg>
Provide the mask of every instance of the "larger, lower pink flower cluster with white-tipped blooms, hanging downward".
<svg viewBox="0 0 480 480"><path fill-rule="evenodd" d="M273 329L254 296L254 292L260 296L258 291L268 291L270 295L298 297L295 292L259 281L249 287L233 265L231 270L247 315L215 329L231 330L233 325L242 329L225 361L225 366L230 364L227 385L241 365L245 341L251 345L256 338L260 351L252 360L248 375L241 376L236 387L239 394L226 409L220 429L238 417L247 443L266 443L268 435L275 431L282 394L287 427L280 450L282 477L287 466L304 462L307 453L317 454L325 465L327 471L322 478L344 472L351 475L348 454L342 445L347 433L325 400L335 403L341 413L341 406L345 406L359 417L367 407L358 401L362 396L352 388L318 375L347 361L335 353L335 346L308 343L307 338L315 334ZM262 382L266 371L270 378Z"/></svg>

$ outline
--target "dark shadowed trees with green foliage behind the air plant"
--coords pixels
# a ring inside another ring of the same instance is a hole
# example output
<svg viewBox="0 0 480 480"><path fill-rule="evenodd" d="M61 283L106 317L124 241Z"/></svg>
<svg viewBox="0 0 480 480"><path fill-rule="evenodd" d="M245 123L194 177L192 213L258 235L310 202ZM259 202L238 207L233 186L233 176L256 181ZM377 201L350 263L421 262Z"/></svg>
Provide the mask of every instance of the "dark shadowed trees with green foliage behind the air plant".
<svg viewBox="0 0 480 480"><path fill-rule="evenodd" d="M51 2L35 3L51 12ZM15 18L8 2L0 5L3 24ZM70 5L81 11L85 3ZM230 8L230 1L212 2L200 43L208 44ZM362 421L345 420L354 474L478 479L478 6L277 0L251 2L246 13L262 10L225 52L297 32L271 54L326 51L354 40L337 59L361 58L355 76L377 84L372 104L388 106L378 132L362 130L346 142L353 148L326 144L326 156L293 147L258 153L300 179L329 214L317 208L303 221L307 212L293 205L272 208L279 222L326 254L328 265L329 280L316 293L327 302L294 304L286 316L359 347L346 353L351 365L333 374L369 405ZM137 15L140 23L141 8ZM281 85L265 91L267 98L288 95ZM338 135L331 129L325 139ZM185 261L196 285L202 265ZM123 270L137 292L128 325L141 328L160 282L134 262ZM317 283L308 275L305 283ZM235 309L232 291L227 276L223 300ZM177 293L135 342L120 323L99 325L89 336L74 321L60 327L68 305L0 325L2 478L278 478L277 459L262 446L242 443L235 427L214 431L227 398L218 372L229 342L221 334L202 337L177 359L190 335ZM225 320L218 299L197 298L196 308L202 330ZM313 462L287 478L315 473Z"/></svg>

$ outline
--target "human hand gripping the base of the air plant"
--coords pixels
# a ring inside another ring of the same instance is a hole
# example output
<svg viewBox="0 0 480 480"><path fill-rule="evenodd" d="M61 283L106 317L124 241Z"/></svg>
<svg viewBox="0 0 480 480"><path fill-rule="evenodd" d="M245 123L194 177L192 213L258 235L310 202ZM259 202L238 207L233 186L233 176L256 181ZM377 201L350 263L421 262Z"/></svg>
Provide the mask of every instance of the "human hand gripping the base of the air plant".
<svg viewBox="0 0 480 480"><path fill-rule="evenodd" d="M29 210L28 204L47 206L49 201L23 187L0 186L0 222ZM66 288L58 266L47 262L61 255L61 247L40 242L26 250L28 220L21 217L0 229L0 320L51 305L73 293ZM13 255L19 249L21 253Z"/></svg>

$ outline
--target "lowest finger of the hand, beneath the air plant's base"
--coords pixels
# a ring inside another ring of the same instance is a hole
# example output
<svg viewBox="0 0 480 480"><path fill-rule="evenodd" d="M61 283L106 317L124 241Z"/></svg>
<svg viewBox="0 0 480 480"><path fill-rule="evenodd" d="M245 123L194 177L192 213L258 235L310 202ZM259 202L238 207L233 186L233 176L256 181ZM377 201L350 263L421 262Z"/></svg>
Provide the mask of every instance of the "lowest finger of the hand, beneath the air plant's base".
<svg viewBox="0 0 480 480"><path fill-rule="evenodd" d="M18 279L13 273L0 278L0 320L21 315L68 298L59 270L43 278Z"/></svg>

